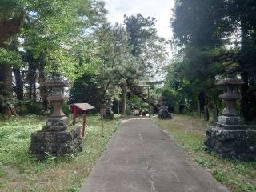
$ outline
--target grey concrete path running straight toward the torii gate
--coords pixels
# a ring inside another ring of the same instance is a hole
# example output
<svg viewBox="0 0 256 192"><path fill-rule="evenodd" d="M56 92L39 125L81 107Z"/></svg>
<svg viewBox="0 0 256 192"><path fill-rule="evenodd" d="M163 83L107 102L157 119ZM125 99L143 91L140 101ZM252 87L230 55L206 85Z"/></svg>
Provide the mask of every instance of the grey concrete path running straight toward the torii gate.
<svg viewBox="0 0 256 192"><path fill-rule="evenodd" d="M97 142L97 141L95 141ZM228 191L147 118L122 120L82 192Z"/></svg>

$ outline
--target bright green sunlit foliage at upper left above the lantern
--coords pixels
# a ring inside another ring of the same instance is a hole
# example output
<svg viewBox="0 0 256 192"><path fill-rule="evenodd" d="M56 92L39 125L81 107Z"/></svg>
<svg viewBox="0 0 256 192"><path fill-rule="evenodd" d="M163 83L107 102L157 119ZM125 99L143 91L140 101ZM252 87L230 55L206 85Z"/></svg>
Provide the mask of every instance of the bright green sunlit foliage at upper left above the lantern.
<svg viewBox="0 0 256 192"><path fill-rule="evenodd" d="M12 28L20 28L17 34L1 45L0 67L18 66L22 70L22 85L27 82L31 90L38 82L42 87L47 76L57 70L62 72L71 84L85 73L98 73L98 66L102 65L102 61L95 57L94 31L106 22L103 2L2 0L0 10L0 24L8 22L13 25ZM18 18L22 25L19 26L20 22L13 22L13 18ZM2 31L8 32L7 25L4 26L6 28L3 27ZM19 52L19 49L22 51ZM0 81L5 79L0 77ZM46 91L40 91L40 94L46 102ZM12 96L10 93L7 101L6 96L1 94L1 105L9 105ZM31 93L29 98L32 98ZM21 103L18 110L38 113L39 106L28 103ZM35 105L34 111L33 107L30 109L31 105Z"/></svg>

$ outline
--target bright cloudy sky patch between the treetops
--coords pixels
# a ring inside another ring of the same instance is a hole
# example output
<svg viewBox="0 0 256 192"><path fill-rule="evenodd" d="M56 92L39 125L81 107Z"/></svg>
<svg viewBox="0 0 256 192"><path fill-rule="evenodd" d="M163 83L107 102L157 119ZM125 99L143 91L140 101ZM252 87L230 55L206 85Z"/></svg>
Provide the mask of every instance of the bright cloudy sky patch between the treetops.
<svg viewBox="0 0 256 192"><path fill-rule="evenodd" d="M158 35L170 39L171 9L174 7L174 0L105 0L106 9L109 14L107 18L111 23L123 23L123 16L131 14L142 14L157 19L156 27Z"/></svg>

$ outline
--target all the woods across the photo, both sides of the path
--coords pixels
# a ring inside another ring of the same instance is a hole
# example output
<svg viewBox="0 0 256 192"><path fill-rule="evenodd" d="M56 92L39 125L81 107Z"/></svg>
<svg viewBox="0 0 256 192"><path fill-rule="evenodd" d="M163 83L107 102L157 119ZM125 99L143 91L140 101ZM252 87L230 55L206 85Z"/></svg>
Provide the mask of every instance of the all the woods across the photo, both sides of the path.
<svg viewBox="0 0 256 192"><path fill-rule="evenodd" d="M71 82L69 102L104 98L127 109L157 111L160 95L175 113L204 113L222 102L214 85L227 75L241 77L247 120L256 117L255 2L176 0L170 15L173 38L160 38L152 17L124 15L111 25L104 2L2 1L0 14L0 108L6 118L49 110L43 82L59 71ZM174 50L168 58L168 47ZM163 70L164 69L164 70ZM146 85L166 74L162 90ZM32 111L31 111L32 110Z"/></svg>

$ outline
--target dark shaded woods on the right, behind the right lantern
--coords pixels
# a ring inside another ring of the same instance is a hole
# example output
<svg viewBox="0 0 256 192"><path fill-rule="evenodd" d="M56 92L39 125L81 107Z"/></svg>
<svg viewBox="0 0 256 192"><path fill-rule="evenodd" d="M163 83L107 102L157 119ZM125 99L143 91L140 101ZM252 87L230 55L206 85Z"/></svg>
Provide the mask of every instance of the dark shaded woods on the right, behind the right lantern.
<svg viewBox="0 0 256 192"><path fill-rule="evenodd" d="M241 114L255 119L255 7L252 0L175 2L170 25L177 51L166 86L188 110L213 109L219 103L214 82L233 74L245 82Z"/></svg>

